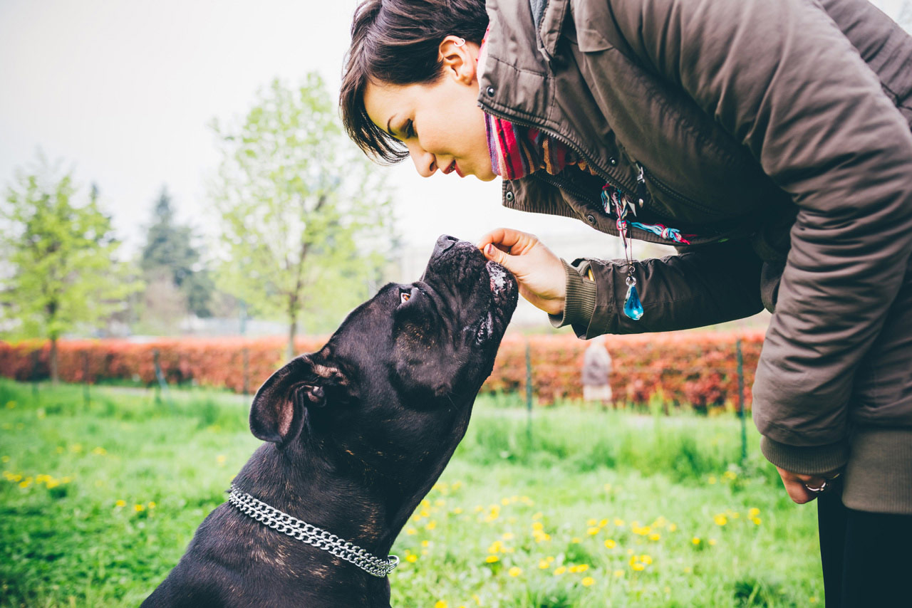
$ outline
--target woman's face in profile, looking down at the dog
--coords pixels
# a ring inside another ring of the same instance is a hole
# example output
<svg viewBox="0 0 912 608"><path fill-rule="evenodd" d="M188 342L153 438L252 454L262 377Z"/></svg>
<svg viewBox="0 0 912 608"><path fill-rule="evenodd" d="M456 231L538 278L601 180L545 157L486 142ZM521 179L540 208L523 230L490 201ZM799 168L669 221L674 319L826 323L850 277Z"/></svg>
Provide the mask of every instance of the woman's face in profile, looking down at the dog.
<svg viewBox="0 0 912 608"><path fill-rule="evenodd" d="M478 46L453 43L458 40L447 36L440 45L444 65L436 82L369 83L364 106L379 129L405 144L422 177L439 169L490 181L497 176L491 167L484 114L477 103Z"/></svg>

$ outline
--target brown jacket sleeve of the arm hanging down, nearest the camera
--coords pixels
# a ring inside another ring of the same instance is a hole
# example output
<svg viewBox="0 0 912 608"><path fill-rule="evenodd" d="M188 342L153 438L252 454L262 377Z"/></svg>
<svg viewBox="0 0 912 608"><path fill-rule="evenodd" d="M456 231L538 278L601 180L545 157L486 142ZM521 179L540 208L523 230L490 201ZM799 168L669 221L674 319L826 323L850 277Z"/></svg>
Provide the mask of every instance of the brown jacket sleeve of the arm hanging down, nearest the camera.
<svg viewBox="0 0 912 608"><path fill-rule="evenodd" d="M683 89L798 207L753 416L767 458L822 472L845 454L855 370L912 252L912 132L813 0L607 1L623 52Z"/></svg>

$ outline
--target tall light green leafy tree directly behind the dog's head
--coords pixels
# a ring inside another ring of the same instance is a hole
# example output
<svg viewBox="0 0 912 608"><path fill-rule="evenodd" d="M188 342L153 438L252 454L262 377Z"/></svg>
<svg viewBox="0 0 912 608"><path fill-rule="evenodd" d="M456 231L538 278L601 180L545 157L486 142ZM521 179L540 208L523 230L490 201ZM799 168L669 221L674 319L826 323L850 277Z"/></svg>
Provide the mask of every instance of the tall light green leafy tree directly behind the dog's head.
<svg viewBox="0 0 912 608"><path fill-rule="evenodd" d="M376 287L391 241L384 176L348 141L320 77L278 80L243 123L222 129L212 198L222 219L218 284L259 314L314 329ZM325 326L325 325L324 325Z"/></svg>

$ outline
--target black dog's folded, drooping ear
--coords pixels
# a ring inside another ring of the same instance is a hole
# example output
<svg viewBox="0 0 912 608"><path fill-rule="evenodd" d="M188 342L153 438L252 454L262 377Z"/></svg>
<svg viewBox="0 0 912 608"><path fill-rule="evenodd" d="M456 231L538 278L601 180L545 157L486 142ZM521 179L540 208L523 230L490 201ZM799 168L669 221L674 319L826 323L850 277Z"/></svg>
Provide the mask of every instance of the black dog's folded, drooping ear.
<svg viewBox="0 0 912 608"><path fill-rule="evenodd" d="M250 430L256 438L284 446L301 434L306 409L326 406L326 389L346 384L336 367L317 365L310 356L296 357L256 391Z"/></svg>

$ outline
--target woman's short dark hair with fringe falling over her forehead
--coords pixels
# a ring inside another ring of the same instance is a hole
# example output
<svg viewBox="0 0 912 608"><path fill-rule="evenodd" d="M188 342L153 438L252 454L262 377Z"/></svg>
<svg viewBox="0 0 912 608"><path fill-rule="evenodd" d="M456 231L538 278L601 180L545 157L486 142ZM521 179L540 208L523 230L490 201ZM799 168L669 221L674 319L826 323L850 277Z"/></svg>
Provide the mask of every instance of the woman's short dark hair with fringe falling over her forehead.
<svg viewBox="0 0 912 608"><path fill-rule="evenodd" d="M409 152L368 118L368 82L411 85L442 74L440 42L459 36L482 44L484 0L366 0L355 9L339 107L348 137L368 156L398 162Z"/></svg>

